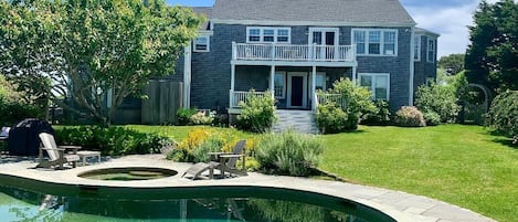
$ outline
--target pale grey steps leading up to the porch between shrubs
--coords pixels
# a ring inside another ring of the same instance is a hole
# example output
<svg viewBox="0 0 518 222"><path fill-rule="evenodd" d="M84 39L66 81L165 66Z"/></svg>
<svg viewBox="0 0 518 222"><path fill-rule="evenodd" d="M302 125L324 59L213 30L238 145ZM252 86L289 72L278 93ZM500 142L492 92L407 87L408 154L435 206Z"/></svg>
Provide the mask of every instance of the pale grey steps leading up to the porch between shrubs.
<svg viewBox="0 0 518 222"><path fill-rule="evenodd" d="M287 110L275 112L277 123L273 127L274 133L282 133L289 128L302 134L318 134L315 114L311 110Z"/></svg>

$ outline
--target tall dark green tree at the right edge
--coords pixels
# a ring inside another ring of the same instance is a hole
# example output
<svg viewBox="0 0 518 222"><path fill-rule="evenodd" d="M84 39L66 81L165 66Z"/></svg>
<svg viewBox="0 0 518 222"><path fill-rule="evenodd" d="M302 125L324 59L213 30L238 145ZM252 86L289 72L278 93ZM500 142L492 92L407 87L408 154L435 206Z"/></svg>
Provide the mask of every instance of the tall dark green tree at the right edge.
<svg viewBox="0 0 518 222"><path fill-rule="evenodd" d="M518 3L483 1L469 27L465 67L469 83L494 92L518 89Z"/></svg>

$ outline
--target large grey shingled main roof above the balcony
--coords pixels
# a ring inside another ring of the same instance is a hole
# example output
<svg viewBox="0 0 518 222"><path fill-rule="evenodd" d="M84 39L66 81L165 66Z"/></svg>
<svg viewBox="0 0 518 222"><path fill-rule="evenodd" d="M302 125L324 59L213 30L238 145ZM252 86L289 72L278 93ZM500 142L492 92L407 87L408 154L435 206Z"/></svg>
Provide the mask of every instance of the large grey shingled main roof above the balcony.
<svg viewBox="0 0 518 222"><path fill-rule="evenodd" d="M211 19L415 25L399 0L216 0Z"/></svg>

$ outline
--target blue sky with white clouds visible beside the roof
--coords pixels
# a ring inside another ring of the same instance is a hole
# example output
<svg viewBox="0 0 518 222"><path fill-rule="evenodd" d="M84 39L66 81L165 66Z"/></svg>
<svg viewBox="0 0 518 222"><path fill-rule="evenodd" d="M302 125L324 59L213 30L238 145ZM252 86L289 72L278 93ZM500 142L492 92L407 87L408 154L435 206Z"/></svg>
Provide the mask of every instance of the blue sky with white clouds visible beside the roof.
<svg viewBox="0 0 518 222"><path fill-rule="evenodd" d="M437 55L465 53L469 43L467 27L480 0L400 0L417 27L441 34ZM488 0L495 2L497 0ZM211 7L214 0L167 0L171 6Z"/></svg>

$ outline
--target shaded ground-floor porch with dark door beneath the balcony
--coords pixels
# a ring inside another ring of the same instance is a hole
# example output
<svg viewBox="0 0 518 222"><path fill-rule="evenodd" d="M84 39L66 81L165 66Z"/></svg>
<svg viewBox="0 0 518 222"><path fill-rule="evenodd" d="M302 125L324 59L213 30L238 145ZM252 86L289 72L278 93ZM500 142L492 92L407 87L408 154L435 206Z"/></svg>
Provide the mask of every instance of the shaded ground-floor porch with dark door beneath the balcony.
<svg viewBox="0 0 518 222"><path fill-rule="evenodd" d="M246 101L249 91L261 96L273 96L277 109L314 110L315 94L326 91L341 77L353 78L355 67L293 67L237 65L229 93L230 113L239 114L239 102ZM273 72L273 75L272 75ZM273 83L272 83L273 81ZM272 86L273 84L273 86ZM272 88L272 89L271 89ZM265 95L269 91L272 95Z"/></svg>

